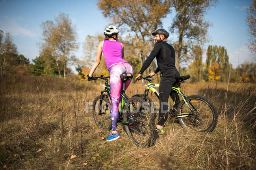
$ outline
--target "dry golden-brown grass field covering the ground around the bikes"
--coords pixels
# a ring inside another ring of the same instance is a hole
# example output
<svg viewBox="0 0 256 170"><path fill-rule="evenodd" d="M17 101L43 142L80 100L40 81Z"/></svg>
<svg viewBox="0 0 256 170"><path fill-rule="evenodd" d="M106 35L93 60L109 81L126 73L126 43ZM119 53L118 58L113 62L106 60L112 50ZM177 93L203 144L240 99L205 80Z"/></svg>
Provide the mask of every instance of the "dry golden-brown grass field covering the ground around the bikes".
<svg viewBox="0 0 256 170"><path fill-rule="evenodd" d="M169 119L165 135L138 148L119 125L120 140L107 143L85 102L97 83L50 77L0 80L0 167L10 169L254 169L256 91L243 83L185 83L185 94L210 98L219 113L209 134L182 128ZM128 96L142 93L132 83ZM157 99L152 99L157 102ZM171 101L170 101L171 102ZM101 137L104 139L101 139ZM41 149L40 152L39 149ZM72 155L77 157L70 159ZM253 168L254 167L254 168Z"/></svg>

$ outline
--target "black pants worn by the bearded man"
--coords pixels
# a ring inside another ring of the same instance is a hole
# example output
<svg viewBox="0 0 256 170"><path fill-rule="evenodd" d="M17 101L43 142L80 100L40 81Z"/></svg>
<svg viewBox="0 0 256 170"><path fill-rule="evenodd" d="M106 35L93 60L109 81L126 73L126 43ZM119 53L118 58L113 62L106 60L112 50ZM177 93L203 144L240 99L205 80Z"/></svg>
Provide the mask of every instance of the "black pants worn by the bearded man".
<svg viewBox="0 0 256 170"><path fill-rule="evenodd" d="M168 112L168 98L175 99L177 92L172 90L172 87L176 86L176 79L174 77L180 76L180 73L177 69L173 69L172 71L165 72L162 75L160 85L159 85L159 97L160 97L160 109L158 115L158 125L163 126L165 119L167 118ZM179 102L179 98L176 99L176 103Z"/></svg>

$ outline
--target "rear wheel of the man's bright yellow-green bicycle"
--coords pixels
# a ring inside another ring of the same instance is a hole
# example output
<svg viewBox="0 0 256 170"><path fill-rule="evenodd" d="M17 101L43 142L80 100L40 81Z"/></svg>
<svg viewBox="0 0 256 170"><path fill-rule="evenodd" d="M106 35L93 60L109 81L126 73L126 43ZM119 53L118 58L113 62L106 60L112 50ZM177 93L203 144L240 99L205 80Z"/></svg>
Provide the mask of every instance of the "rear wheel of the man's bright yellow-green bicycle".
<svg viewBox="0 0 256 170"><path fill-rule="evenodd" d="M178 105L178 120L180 124L198 132L211 132L217 125L218 113L211 101L203 96L192 95Z"/></svg>

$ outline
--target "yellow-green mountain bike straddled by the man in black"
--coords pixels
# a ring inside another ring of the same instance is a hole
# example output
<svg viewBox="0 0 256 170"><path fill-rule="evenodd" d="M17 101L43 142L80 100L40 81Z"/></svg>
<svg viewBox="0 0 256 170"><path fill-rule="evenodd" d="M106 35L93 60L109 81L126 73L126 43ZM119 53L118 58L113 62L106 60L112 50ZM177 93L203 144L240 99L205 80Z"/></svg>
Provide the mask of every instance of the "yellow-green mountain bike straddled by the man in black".
<svg viewBox="0 0 256 170"><path fill-rule="evenodd" d="M147 103L153 103L152 99L148 97L148 92L152 90L159 99L159 93L154 89L154 87L159 87L159 84L151 83L151 79L149 78L150 76L139 78L139 80L143 79L148 81L148 84L145 85L147 89L145 89L144 94L136 94L134 96L143 98ZM177 117L180 125L185 128L198 132L212 132L218 121L217 109L209 99L199 95L186 96L180 90L181 83L184 83L184 81L189 78L189 75L175 77L176 83L175 86L172 87L172 90L177 94L174 99L173 107L168 108L169 112L167 114L172 117ZM182 100L178 100L179 95Z"/></svg>

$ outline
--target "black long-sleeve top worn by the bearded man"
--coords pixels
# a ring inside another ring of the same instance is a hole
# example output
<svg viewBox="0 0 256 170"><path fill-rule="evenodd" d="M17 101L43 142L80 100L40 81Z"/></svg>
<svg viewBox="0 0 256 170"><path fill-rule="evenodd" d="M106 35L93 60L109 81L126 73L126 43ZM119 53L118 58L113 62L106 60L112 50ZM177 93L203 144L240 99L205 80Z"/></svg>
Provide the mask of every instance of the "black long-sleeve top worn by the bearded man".
<svg viewBox="0 0 256 170"><path fill-rule="evenodd" d="M156 57L158 68L154 71L155 73L161 72L164 74L170 70L175 69L175 51L173 46L167 42L161 42L154 46L154 49L151 51L147 60L143 63L141 70L139 71L142 74L150 65L150 63Z"/></svg>

